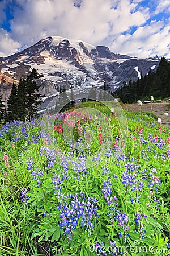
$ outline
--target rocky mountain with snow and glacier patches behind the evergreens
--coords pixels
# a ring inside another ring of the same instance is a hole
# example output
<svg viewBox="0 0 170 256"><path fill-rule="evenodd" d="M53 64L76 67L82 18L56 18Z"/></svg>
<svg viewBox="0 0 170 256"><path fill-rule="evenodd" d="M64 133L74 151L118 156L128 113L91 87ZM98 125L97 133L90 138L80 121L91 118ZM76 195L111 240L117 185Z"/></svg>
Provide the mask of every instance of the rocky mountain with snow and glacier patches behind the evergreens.
<svg viewBox="0 0 170 256"><path fill-rule="evenodd" d="M107 90L114 91L123 81L137 81L150 68L156 70L159 61L158 56L138 59L115 54L105 46L50 36L14 55L0 57L0 93L7 101L12 82L17 84L33 68L44 75L36 82L46 97L80 86L101 88L104 82Z"/></svg>

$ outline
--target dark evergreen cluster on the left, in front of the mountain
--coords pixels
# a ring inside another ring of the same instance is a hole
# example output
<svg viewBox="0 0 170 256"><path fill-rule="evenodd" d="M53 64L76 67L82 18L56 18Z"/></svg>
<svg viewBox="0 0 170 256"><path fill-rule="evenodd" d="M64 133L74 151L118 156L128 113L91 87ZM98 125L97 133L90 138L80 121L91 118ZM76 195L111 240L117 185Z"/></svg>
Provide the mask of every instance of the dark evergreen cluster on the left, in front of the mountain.
<svg viewBox="0 0 170 256"><path fill-rule="evenodd" d="M33 69L25 79L20 79L18 86L13 83L7 108L0 96L0 120L4 123L17 119L25 121L38 115L37 106L42 103L41 98L44 96L39 93L40 85L35 79L40 79L42 76Z"/></svg>

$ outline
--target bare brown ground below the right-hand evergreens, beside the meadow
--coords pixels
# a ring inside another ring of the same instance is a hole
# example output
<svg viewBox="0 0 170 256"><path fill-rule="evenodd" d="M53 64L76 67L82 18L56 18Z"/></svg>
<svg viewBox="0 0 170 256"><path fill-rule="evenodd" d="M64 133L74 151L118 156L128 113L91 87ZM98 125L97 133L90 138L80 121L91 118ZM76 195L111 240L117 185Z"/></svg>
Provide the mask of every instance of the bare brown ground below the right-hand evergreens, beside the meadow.
<svg viewBox="0 0 170 256"><path fill-rule="evenodd" d="M143 111L143 112L152 112L162 119L162 125L167 126L170 130L170 111L167 111L167 102L162 103L147 103L142 106L138 106L138 104L122 104L122 108L128 110L129 112L135 111ZM164 115L167 112L169 114L168 117Z"/></svg>

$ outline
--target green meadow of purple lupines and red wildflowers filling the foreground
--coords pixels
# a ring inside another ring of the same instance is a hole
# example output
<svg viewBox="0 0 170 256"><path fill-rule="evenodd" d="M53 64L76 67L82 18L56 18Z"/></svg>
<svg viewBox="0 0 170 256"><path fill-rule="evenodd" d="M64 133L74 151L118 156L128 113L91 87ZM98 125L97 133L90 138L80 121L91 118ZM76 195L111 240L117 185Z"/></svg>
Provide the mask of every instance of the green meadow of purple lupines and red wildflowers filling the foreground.
<svg viewBox="0 0 170 256"><path fill-rule="evenodd" d="M87 101L1 126L0 255L170 255L169 129L119 116Z"/></svg>

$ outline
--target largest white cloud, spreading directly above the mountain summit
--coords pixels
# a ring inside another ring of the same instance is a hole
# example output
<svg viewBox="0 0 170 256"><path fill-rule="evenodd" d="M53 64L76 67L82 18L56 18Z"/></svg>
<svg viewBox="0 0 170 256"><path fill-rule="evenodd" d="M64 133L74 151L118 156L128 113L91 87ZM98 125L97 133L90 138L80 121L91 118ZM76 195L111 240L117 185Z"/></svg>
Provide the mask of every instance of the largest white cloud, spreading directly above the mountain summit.
<svg viewBox="0 0 170 256"><path fill-rule="evenodd" d="M116 9L111 9L111 3L84 0L80 8L75 8L71 0L26 1L12 20L12 36L23 43L39 40L42 35L60 35L96 44L109 34L120 34L146 21L142 12L132 13L134 3L120 0L114 4Z"/></svg>

